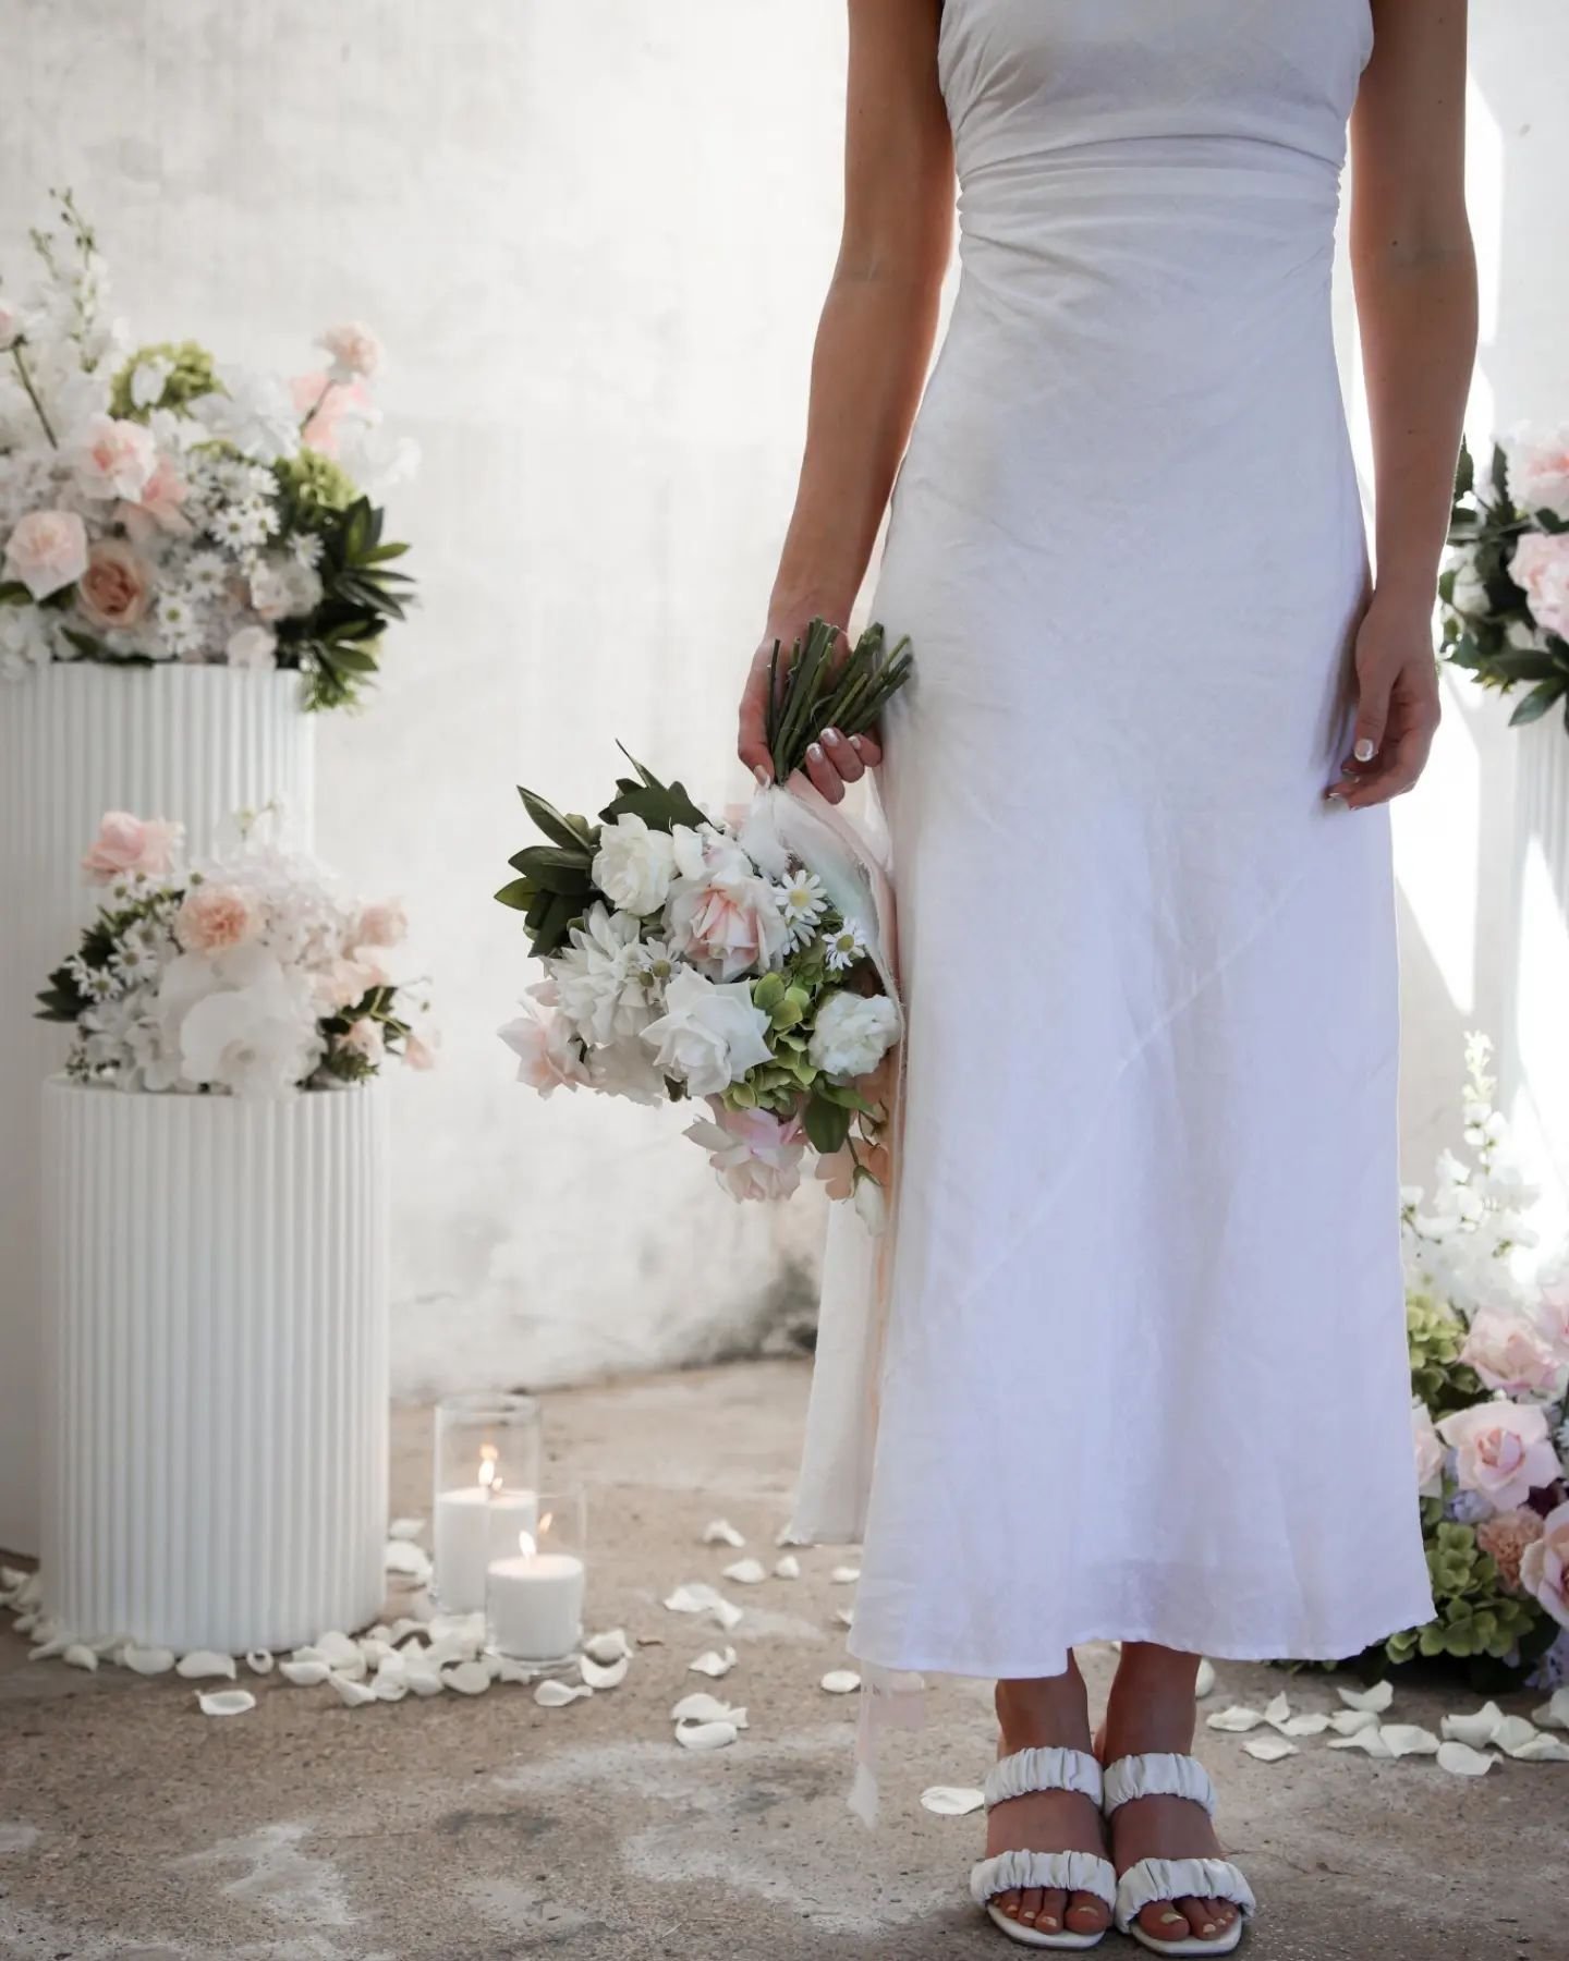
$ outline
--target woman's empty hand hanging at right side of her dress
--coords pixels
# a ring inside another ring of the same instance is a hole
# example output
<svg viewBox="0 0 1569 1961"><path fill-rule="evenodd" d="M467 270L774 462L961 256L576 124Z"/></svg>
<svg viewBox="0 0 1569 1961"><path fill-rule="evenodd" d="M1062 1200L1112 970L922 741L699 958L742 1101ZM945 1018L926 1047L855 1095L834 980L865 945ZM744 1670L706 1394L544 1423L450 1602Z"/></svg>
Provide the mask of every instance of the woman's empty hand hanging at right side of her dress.
<svg viewBox="0 0 1569 1961"><path fill-rule="evenodd" d="M1351 810L1416 786L1438 729L1432 604L1373 600L1357 629L1357 728L1338 782L1324 792Z"/></svg>

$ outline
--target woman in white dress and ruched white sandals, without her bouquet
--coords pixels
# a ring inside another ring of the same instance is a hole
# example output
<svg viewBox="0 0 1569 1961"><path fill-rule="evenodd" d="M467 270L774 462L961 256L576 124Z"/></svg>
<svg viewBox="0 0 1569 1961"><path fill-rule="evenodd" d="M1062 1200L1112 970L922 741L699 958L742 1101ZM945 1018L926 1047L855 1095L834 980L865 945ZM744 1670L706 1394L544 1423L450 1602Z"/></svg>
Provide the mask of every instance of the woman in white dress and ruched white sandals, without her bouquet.
<svg viewBox="0 0 1569 1961"><path fill-rule="evenodd" d="M873 618L916 647L879 771L906 1096L875 1453L824 1418L857 1400L832 1316L867 1271L835 1245L796 1534L863 1539L869 1671L996 1679L973 1892L1004 1932L1226 1951L1251 1894L1189 1755L1198 1655L1347 1657L1432 1616L1385 806L1438 722L1465 6L849 25L843 243L741 757L767 780L767 649L849 618L898 473ZM1330 331L1347 120L1375 580ZM837 800L881 761L828 733L808 775ZM1092 1739L1098 1637L1124 1645Z"/></svg>

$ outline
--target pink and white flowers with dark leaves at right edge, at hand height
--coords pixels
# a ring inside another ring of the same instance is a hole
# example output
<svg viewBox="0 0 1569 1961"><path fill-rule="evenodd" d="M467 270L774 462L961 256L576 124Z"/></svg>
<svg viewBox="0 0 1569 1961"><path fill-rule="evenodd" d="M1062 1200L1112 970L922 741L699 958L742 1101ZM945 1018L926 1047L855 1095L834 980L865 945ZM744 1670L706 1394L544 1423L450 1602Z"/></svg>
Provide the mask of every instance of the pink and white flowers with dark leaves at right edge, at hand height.
<svg viewBox="0 0 1569 1961"><path fill-rule="evenodd" d="M1528 684L1510 722L1563 702L1569 724L1569 427L1493 445L1487 484L1461 447L1438 580L1445 657L1485 688Z"/></svg>

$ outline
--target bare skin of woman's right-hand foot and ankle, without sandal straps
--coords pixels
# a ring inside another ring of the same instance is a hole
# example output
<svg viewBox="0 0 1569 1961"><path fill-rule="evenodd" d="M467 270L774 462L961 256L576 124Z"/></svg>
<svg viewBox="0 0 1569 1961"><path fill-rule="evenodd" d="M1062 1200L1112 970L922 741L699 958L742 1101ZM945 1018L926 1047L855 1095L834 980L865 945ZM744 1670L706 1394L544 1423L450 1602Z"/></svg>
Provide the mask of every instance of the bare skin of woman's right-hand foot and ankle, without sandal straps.
<svg viewBox="0 0 1569 1961"><path fill-rule="evenodd" d="M1149 1751L1192 1753L1198 1655L1179 1655L1147 1641L1124 1641L1106 1704L1096 1755L1102 1765ZM1110 1818L1112 1863L1118 1879L1139 1859L1224 1859L1210 1814L1190 1798L1132 1798ZM1238 1922L1232 1900L1153 1900L1138 1916L1159 1941L1224 1939Z"/></svg>

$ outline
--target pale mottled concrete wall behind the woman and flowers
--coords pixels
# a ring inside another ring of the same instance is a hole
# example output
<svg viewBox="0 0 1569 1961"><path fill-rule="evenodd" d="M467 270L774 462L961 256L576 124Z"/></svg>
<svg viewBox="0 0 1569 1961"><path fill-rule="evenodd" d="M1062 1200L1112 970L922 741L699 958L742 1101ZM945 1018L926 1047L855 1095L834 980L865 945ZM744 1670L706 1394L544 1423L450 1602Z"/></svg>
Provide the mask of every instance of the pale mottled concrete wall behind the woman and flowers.
<svg viewBox="0 0 1569 1961"><path fill-rule="evenodd" d="M1483 431L1569 412L1569 29L1553 0L1475 12ZM398 1092L402 1381L549 1383L753 1339L810 1292L818 1208L734 1208L673 1114L514 1088L490 1031L528 975L488 892L526 841L512 784L592 806L616 735L700 796L739 788L734 696L835 241L843 8L0 0L0 57L8 267L69 182L141 337L294 367L361 316L424 445L394 502L424 610L373 712L324 729L320 773L324 851L408 898L447 1028L441 1073ZM1542 784L1516 782L1500 720L1455 690L1400 812L1416 1177L1479 1022L1510 1045L1538 1163L1569 1175L1544 1006L1569 994L1565 851L1532 857ZM1545 771L1569 741L1538 735ZM1524 886L1555 879L1522 924Z"/></svg>

